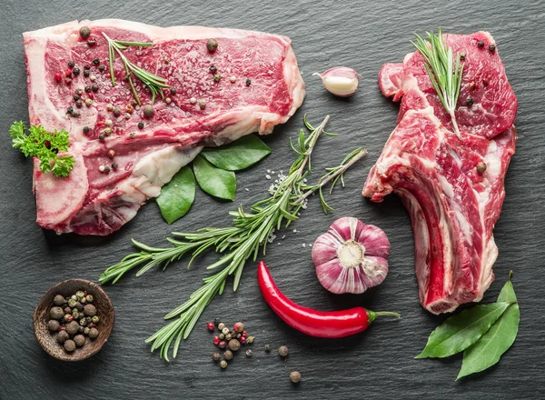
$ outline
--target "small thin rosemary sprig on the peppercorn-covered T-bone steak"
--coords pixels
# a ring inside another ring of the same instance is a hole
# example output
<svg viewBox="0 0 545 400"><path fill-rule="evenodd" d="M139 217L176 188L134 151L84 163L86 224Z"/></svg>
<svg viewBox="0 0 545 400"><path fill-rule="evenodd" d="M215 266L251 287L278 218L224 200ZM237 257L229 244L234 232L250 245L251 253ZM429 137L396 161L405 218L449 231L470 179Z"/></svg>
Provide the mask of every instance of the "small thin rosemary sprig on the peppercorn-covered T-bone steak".
<svg viewBox="0 0 545 400"><path fill-rule="evenodd" d="M120 40L114 40L110 36L104 34L104 37L108 41L108 58L110 61L110 75L112 77L112 85L115 86L115 75L114 75L114 59L115 59L115 53L117 53L121 60L123 61L126 78L129 81L129 85L131 85L131 90L133 91L134 99L138 103L138 105L141 105L140 97L138 96L138 93L136 93L136 88L134 87L133 78L131 75L136 76L144 85L147 86L147 88L152 93L152 104L155 102L155 96L157 94L161 95L162 98L164 98L163 90L171 87L167 84L167 81L165 78L154 75L150 72L147 72L143 68L139 67L138 65L134 65L131 61L127 59L127 57L124 56L122 50L126 49L130 45L134 46L140 46L140 47L149 47L154 45L153 43L148 42L124 42Z"/></svg>

